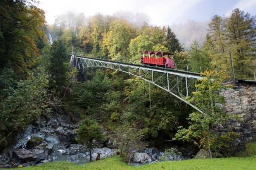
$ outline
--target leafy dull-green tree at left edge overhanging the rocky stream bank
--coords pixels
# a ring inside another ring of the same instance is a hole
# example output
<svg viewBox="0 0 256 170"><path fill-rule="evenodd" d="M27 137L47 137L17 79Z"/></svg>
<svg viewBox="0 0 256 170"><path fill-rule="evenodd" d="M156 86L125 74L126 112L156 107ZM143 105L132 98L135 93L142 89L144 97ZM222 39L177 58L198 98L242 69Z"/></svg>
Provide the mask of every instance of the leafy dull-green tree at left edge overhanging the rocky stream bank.
<svg viewBox="0 0 256 170"><path fill-rule="evenodd" d="M44 68L40 67L29 73L27 80L12 82L10 78L9 82L13 85L5 88L10 91L12 87L12 93L6 93L7 96L0 101L1 147L12 141L17 131L22 130L29 123L40 120L41 114L48 114L51 106L59 106L60 102L53 97L54 93L47 90L49 77Z"/></svg>

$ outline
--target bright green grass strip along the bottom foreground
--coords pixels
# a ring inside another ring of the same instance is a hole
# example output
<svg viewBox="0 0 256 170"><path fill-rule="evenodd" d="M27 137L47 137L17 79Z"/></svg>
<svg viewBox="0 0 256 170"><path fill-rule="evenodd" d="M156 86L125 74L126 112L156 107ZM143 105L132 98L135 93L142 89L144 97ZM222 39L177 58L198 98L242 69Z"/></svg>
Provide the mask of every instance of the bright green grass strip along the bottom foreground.
<svg viewBox="0 0 256 170"><path fill-rule="evenodd" d="M22 170L256 170L255 153L256 143L249 143L246 151L237 154L241 157L166 161L133 167L122 162L119 156L111 156L100 161L81 165L59 161L26 167Z"/></svg>

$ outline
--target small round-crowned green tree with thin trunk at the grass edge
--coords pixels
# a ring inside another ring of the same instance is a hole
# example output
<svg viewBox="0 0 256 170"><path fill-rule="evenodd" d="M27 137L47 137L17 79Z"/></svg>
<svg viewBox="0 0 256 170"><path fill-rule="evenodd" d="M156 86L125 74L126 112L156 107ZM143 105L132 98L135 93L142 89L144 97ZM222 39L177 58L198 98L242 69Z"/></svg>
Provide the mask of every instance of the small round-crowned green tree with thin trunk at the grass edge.
<svg viewBox="0 0 256 170"><path fill-rule="evenodd" d="M92 162L92 148L95 146L93 140L104 141L106 138L101 132L102 127L95 120L84 119L80 122L78 128L78 138L80 143L87 143L90 153L90 162Z"/></svg>

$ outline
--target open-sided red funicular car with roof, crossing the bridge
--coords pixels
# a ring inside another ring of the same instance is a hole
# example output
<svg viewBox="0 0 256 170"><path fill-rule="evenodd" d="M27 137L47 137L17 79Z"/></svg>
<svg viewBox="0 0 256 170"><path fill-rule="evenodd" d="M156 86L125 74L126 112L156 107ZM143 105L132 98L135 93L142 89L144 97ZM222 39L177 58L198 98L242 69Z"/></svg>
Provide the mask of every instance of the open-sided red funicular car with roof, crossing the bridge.
<svg viewBox="0 0 256 170"><path fill-rule="evenodd" d="M174 67L173 59L170 58L170 55L173 55L172 53L166 52L166 51L142 51L143 57L140 58L140 63L146 64L146 65L157 65L161 67ZM145 56L145 54L148 54L148 56ZM150 58L150 55L154 54L152 58ZM157 58L157 56L159 56Z"/></svg>

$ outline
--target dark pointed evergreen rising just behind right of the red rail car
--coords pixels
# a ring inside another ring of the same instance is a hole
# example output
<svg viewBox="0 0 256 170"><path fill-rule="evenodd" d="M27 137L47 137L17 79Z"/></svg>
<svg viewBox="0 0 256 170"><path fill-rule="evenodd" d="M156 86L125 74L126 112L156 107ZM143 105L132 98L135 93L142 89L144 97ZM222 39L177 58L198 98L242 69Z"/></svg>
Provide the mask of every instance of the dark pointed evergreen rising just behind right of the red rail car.
<svg viewBox="0 0 256 170"><path fill-rule="evenodd" d="M167 27L167 35L164 45L168 48L168 51L171 51L172 53L174 53L176 50L178 50L178 52L183 50L182 44L180 44L170 26Z"/></svg>

